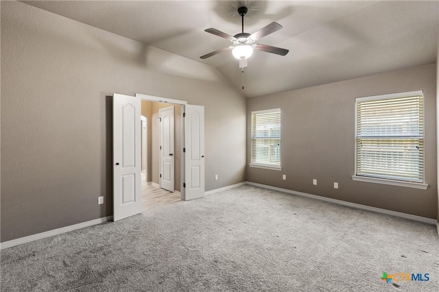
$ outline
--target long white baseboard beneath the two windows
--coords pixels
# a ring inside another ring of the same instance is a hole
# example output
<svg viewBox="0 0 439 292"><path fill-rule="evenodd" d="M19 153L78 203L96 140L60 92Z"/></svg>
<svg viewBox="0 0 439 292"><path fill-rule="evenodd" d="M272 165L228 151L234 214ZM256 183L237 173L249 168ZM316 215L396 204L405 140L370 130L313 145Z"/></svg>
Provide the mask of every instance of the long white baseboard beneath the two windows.
<svg viewBox="0 0 439 292"><path fill-rule="evenodd" d="M438 225L437 225L438 221L436 221L436 219L420 217L420 216L416 216L416 215L406 214L406 213L402 213L402 212L396 212L396 211L392 211L392 210L385 210L385 209L361 205L361 204L355 204L355 203L351 203L351 202L342 201L340 199L331 199L330 197L322 197L320 195L311 195L309 193L292 191L292 190L288 190L286 188L278 188L276 186L268 186L266 184L257 184L256 182L247 182L247 184L249 184L250 186L259 186L260 188L268 188L268 189L273 190L273 191L280 191L280 192L289 193L292 195L300 195L302 197L309 197L311 199L320 199L320 201L330 202L330 203L334 203L334 204L338 204L338 205L342 205L342 206L348 206L351 208L368 210L368 211L377 212L377 213L381 213L381 214L385 214L385 215L392 215L395 217L401 217L401 218L419 221L419 222L423 222L423 223L429 223L429 224L436 225L436 227L438 227ZM438 227L438 233L439 233L439 227Z"/></svg>

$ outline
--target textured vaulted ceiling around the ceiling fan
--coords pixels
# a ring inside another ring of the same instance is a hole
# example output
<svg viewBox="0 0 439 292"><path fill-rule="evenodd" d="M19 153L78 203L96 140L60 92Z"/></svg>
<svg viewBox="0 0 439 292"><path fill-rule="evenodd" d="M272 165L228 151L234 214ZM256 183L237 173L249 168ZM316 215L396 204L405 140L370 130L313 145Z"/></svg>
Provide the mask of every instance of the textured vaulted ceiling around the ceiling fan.
<svg viewBox="0 0 439 292"><path fill-rule="evenodd" d="M23 1L43 10L215 66L246 97L315 86L436 62L439 1ZM241 70L230 45L207 34L235 35L246 5L245 32L276 21L283 29L259 43L287 56L255 51Z"/></svg>

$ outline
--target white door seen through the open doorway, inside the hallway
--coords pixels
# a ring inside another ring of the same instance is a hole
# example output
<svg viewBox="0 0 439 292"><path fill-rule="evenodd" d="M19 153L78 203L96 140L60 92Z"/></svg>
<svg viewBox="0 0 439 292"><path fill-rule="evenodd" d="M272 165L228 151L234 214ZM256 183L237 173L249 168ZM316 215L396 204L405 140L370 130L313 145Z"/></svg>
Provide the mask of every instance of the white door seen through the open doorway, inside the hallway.
<svg viewBox="0 0 439 292"><path fill-rule="evenodd" d="M158 110L160 118L160 187L174 192L174 106Z"/></svg>

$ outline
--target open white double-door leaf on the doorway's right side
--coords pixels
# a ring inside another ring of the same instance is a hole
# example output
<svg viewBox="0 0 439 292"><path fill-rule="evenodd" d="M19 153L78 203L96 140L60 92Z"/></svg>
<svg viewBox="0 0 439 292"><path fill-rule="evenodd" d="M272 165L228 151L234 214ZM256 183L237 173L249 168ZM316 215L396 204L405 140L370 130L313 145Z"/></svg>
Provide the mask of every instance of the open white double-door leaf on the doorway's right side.
<svg viewBox="0 0 439 292"><path fill-rule="evenodd" d="M185 200L204 197L204 106L185 106Z"/></svg>

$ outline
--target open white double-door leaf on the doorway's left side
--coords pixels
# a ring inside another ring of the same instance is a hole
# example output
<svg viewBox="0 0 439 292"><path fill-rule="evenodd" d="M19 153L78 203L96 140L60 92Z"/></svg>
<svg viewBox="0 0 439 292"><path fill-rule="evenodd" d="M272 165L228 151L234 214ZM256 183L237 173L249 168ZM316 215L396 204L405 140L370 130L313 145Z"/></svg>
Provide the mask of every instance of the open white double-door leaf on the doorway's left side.
<svg viewBox="0 0 439 292"><path fill-rule="evenodd" d="M141 99L113 95L113 220L139 214L141 205Z"/></svg>

